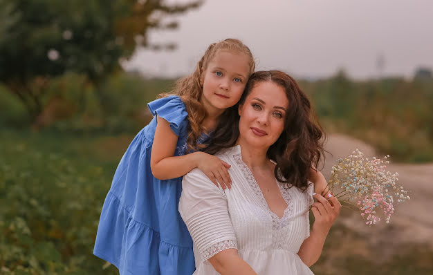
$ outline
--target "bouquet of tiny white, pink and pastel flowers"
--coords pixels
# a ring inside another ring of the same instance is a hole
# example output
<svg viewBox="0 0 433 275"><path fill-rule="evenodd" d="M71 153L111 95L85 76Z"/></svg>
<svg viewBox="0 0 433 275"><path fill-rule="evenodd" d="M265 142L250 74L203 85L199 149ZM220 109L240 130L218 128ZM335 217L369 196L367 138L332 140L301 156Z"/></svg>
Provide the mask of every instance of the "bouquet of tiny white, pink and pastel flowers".
<svg viewBox="0 0 433 275"><path fill-rule="evenodd" d="M356 149L332 167L328 188L340 202L359 209L366 225L376 225L381 216L389 223L394 213L394 199L397 202L410 199L407 191L396 184L398 173L386 171L388 158L389 155L385 160L369 160Z"/></svg>

